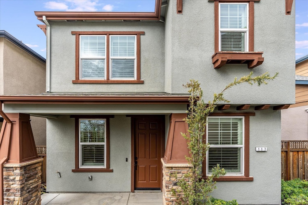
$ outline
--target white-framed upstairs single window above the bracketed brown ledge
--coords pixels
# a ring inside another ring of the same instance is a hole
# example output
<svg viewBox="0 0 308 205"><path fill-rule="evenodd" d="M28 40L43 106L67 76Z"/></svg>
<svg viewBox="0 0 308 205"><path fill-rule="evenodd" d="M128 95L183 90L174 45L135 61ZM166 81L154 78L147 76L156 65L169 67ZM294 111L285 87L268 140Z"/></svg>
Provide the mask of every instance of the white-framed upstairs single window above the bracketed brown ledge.
<svg viewBox="0 0 308 205"><path fill-rule="evenodd" d="M219 51L248 51L248 3L219 3Z"/></svg>

